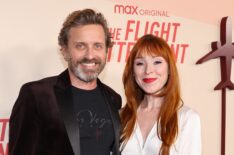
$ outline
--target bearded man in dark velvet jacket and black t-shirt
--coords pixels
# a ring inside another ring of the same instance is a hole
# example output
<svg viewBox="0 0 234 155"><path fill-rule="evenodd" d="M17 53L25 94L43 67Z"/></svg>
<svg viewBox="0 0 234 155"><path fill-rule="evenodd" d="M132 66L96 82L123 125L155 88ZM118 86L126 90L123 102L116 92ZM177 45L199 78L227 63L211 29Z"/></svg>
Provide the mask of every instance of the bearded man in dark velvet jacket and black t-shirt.
<svg viewBox="0 0 234 155"><path fill-rule="evenodd" d="M111 47L105 18L75 11L59 45L68 69L22 86L10 117L10 155L119 155L121 97L98 75Z"/></svg>

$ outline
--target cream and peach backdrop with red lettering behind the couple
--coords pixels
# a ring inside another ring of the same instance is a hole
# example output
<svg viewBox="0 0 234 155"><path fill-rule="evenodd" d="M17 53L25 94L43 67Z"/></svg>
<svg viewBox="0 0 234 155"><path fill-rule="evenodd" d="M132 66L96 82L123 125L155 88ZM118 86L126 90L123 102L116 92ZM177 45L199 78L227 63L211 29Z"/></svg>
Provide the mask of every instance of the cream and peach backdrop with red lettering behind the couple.
<svg viewBox="0 0 234 155"><path fill-rule="evenodd" d="M114 46L101 80L119 92L125 104L122 73L135 41L144 34L164 38L176 53L182 98L201 117L204 155L219 155L221 143L220 60L196 62L220 41L220 22L234 21L231 0L21 0L0 5L0 155L8 155L11 109L25 82L57 75L66 68L57 37L74 10L92 8L108 20ZM234 26L231 30L234 35ZM234 37L232 37L234 42ZM232 62L234 62L232 60ZM234 81L234 67L231 70ZM234 154L234 91L226 92L226 155Z"/></svg>

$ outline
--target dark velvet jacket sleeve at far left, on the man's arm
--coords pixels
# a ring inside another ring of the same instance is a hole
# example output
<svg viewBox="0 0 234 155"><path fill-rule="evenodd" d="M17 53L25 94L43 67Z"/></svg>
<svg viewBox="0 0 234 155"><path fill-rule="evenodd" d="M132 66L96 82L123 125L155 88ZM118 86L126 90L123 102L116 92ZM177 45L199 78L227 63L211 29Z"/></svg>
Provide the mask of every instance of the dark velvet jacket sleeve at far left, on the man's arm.
<svg viewBox="0 0 234 155"><path fill-rule="evenodd" d="M35 98L24 85L13 106L9 121L9 155L35 154L39 133Z"/></svg>

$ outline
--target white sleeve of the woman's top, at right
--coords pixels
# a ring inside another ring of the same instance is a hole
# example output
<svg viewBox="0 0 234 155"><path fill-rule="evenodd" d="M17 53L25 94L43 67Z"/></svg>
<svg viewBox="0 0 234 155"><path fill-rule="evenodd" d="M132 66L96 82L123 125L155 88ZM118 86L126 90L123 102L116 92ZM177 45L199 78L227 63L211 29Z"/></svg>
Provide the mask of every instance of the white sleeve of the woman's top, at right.
<svg viewBox="0 0 234 155"><path fill-rule="evenodd" d="M198 113L193 110L183 114L179 139L180 155L201 155L201 123Z"/></svg>

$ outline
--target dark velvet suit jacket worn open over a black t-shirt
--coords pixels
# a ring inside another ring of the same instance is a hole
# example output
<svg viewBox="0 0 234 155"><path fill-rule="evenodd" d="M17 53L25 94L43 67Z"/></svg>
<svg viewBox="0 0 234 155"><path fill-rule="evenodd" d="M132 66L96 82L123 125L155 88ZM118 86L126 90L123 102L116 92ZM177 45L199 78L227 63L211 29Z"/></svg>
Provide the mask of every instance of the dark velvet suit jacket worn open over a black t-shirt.
<svg viewBox="0 0 234 155"><path fill-rule="evenodd" d="M111 114L113 155L119 155L121 97L100 80L98 85ZM80 155L79 127L72 107L68 70L24 84L10 116L9 154Z"/></svg>

